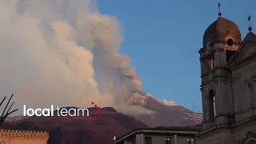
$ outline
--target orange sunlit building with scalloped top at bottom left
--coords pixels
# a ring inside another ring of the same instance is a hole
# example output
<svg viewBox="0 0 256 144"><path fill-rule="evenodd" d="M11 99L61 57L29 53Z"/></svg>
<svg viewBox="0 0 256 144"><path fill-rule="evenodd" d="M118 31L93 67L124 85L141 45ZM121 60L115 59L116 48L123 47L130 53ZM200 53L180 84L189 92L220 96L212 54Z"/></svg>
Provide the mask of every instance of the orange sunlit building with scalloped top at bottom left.
<svg viewBox="0 0 256 144"><path fill-rule="evenodd" d="M30 130L0 130L0 144L47 144L49 133Z"/></svg>

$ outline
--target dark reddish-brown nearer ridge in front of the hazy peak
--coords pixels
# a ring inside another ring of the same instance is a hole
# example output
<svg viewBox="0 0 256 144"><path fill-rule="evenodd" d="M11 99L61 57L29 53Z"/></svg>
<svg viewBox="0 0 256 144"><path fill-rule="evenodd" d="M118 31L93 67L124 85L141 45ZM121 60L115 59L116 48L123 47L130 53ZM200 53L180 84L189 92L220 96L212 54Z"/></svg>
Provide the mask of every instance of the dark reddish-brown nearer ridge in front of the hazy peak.
<svg viewBox="0 0 256 144"><path fill-rule="evenodd" d="M97 110L90 110L94 115ZM120 114L113 108L103 108L94 121L91 117L30 117L6 121L2 128L18 130L46 130L50 132L49 144L98 144L112 143L112 134L121 136L130 130L147 127L135 118Z"/></svg>

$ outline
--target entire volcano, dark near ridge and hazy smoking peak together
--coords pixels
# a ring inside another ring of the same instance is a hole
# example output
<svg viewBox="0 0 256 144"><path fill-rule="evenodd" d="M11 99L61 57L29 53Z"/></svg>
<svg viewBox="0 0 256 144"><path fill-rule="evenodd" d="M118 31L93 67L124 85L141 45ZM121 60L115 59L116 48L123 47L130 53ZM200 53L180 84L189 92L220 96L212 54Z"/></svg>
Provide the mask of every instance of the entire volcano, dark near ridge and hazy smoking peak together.
<svg viewBox="0 0 256 144"><path fill-rule="evenodd" d="M2 128L15 130L49 131L49 144L93 144L112 143L112 135L117 137L138 128L156 126L194 126L202 122L202 114L194 113L183 106L166 106L158 100L144 95L142 108L154 111L150 114L126 113L113 107L102 108L99 118L92 121L88 117L10 117ZM76 107L66 107L76 108ZM97 114L96 108L88 108L90 115Z"/></svg>

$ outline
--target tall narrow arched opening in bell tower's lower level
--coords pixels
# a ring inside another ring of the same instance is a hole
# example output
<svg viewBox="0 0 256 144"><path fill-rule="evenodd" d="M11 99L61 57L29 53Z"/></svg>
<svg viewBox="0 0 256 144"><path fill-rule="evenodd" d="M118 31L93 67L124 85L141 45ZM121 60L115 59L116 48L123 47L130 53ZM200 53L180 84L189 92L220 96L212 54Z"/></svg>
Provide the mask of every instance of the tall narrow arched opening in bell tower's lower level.
<svg viewBox="0 0 256 144"><path fill-rule="evenodd" d="M214 90L210 89L209 97L210 97L209 120L214 121L214 118L216 116L216 97L215 97Z"/></svg>

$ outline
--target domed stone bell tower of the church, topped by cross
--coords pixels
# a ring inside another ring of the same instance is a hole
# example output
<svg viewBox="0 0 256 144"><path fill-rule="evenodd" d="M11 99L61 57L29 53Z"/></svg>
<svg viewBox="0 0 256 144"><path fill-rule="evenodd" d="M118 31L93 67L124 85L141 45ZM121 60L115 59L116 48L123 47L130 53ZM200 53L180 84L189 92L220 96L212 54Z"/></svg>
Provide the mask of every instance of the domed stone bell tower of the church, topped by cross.
<svg viewBox="0 0 256 144"><path fill-rule="evenodd" d="M218 19L205 31L203 47L198 51L202 78L203 130L225 126L234 121L230 70L227 62L242 42L238 26L222 18L218 3Z"/></svg>

